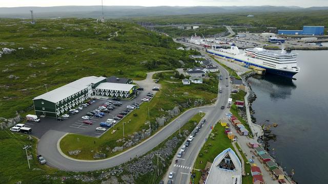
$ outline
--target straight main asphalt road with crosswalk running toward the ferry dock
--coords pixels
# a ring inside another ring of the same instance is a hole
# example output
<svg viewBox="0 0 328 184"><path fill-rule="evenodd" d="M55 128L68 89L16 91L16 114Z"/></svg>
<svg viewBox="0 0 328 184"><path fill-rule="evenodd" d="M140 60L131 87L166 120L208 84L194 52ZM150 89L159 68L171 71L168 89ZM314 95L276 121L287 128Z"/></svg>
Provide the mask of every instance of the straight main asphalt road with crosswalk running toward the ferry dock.
<svg viewBox="0 0 328 184"><path fill-rule="evenodd" d="M173 176L173 183L189 183L190 181L190 172L193 171L193 166L196 161L197 155L205 143L206 137L211 132L210 127L213 126L219 119L224 116L224 113L227 113L229 110L224 108L221 110L221 106L224 105L227 107L228 98L230 97L230 79L229 73L226 69L224 69L221 65L215 62L211 57L209 57L206 53L201 52L202 55L206 56L206 59L211 60L213 65L218 66L220 70L220 74L222 75L222 80L219 81L219 86L222 87L222 93L218 95L218 100L214 107L208 109L206 116L206 123L203 127L198 131L195 135L193 141L190 143L189 147L182 154L181 159L177 158L177 153L173 159L172 164L170 165L167 174L165 176L165 183L169 180L168 175L170 171L173 171L175 174ZM228 79L226 79L228 77ZM229 84L229 87L226 87L226 83ZM187 141L187 140L186 140ZM175 164L174 160L178 159L178 162Z"/></svg>

